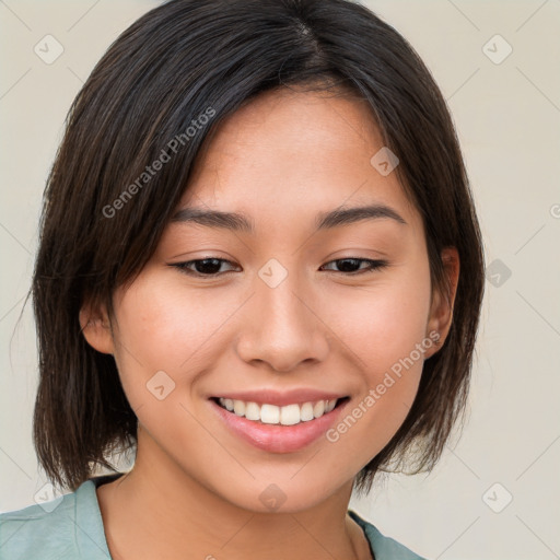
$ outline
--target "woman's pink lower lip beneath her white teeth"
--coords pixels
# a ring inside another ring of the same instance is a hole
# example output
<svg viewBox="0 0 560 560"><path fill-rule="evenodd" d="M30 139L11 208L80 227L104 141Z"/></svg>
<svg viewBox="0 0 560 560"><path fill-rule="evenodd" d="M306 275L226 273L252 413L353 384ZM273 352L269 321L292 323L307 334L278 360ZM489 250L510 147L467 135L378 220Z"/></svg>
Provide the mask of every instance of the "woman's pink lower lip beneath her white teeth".
<svg viewBox="0 0 560 560"><path fill-rule="evenodd" d="M310 445L320 438L338 419L349 399L335 407L330 412L307 422L294 425L264 424L247 420L222 408L210 399L212 408L230 429L246 442L270 453L292 453Z"/></svg>

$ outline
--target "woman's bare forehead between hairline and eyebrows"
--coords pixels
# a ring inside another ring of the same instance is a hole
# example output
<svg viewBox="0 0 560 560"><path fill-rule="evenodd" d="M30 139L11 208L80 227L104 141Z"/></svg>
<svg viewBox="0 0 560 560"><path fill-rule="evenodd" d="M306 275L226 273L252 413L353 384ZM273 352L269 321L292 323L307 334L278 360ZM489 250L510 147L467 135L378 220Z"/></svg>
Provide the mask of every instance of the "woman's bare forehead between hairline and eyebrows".
<svg viewBox="0 0 560 560"><path fill-rule="evenodd" d="M371 163L383 148L363 100L267 92L221 124L199 153L179 207L236 211L270 229L338 207L378 203L398 208L418 226L397 175L383 176Z"/></svg>

